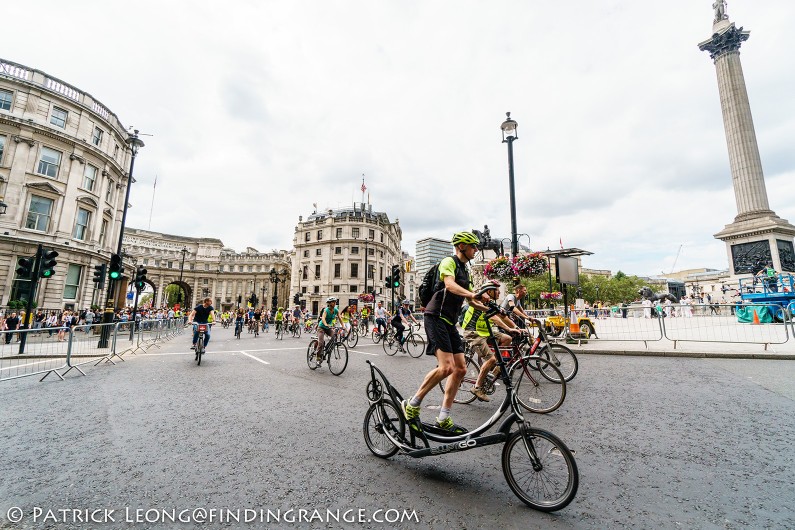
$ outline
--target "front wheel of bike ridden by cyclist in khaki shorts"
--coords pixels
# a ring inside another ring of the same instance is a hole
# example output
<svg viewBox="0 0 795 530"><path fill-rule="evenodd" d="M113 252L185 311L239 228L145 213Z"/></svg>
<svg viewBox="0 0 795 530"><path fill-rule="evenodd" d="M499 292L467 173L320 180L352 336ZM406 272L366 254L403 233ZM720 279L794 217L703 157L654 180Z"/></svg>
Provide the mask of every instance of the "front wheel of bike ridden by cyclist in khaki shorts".
<svg viewBox="0 0 795 530"><path fill-rule="evenodd" d="M542 377L539 372L550 377ZM543 357L523 357L512 365L510 375L519 404L530 412L547 414L566 399L566 382L560 370Z"/></svg>

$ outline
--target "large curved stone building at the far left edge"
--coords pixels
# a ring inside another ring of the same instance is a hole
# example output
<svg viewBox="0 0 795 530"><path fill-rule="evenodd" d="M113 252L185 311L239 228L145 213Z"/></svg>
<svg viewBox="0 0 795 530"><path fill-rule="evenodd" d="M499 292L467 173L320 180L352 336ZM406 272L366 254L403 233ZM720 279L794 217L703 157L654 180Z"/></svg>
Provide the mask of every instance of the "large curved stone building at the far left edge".
<svg viewBox="0 0 795 530"><path fill-rule="evenodd" d="M38 244L60 254L55 275L39 283L39 307L101 301L90 271L118 244L128 138L91 94L0 59L0 304L27 298L30 282L16 267Z"/></svg>

